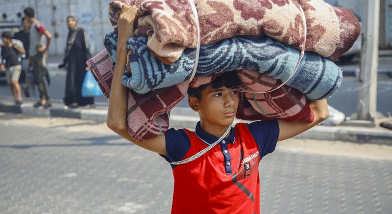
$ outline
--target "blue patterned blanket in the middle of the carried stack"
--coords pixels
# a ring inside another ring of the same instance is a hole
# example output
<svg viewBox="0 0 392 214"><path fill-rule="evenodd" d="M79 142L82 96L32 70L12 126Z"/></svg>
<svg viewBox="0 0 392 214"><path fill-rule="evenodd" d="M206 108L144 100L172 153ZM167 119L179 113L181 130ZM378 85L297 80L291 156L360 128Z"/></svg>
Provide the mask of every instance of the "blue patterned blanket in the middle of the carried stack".
<svg viewBox="0 0 392 214"><path fill-rule="evenodd" d="M106 36L105 46L115 62L116 33ZM189 79L195 50L187 48L180 60L164 65L147 46L146 37L128 40L132 74L125 72L123 84L136 93L170 87ZM196 76L209 76L225 71L249 69L278 79L289 79L299 59L299 50L269 37L241 36L225 39L200 48ZM342 70L314 52L305 52L298 70L286 84L298 89L310 100L331 96L342 82Z"/></svg>

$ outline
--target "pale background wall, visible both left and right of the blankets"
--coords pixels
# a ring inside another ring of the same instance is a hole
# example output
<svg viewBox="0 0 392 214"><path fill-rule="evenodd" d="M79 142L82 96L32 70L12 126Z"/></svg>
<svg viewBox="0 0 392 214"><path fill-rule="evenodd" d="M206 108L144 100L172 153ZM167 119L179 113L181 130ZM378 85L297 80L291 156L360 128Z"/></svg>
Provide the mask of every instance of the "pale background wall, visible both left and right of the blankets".
<svg viewBox="0 0 392 214"><path fill-rule="evenodd" d="M359 17L362 15L362 0L325 0L331 5L349 8ZM91 37L91 52L97 53L104 48L106 33L113 31L108 20L108 3L111 0L0 0L0 13L7 13L9 19L17 20L17 12L33 7L36 16L54 36L49 53L64 54L68 28L66 16L74 14L79 18L79 25ZM381 0L380 47L392 48L392 0ZM387 7L388 6L388 7Z"/></svg>

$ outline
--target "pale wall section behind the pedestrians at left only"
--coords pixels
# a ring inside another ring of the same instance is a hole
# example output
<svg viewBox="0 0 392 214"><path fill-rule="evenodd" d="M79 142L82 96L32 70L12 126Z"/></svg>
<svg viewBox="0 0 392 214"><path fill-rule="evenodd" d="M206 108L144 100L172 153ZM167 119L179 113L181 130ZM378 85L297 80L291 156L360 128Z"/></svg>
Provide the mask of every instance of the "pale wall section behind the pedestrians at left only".
<svg viewBox="0 0 392 214"><path fill-rule="evenodd" d="M66 17L72 13L79 18L79 26L89 33L94 54L104 48L106 33L113 31L107 15L109 2L111 0L0 0L0 14L7 13L9 19L17 20L18 12L23 14L24 8L34 8L36 17L53 35L49 53L63 55L68 35Z"/></svg>

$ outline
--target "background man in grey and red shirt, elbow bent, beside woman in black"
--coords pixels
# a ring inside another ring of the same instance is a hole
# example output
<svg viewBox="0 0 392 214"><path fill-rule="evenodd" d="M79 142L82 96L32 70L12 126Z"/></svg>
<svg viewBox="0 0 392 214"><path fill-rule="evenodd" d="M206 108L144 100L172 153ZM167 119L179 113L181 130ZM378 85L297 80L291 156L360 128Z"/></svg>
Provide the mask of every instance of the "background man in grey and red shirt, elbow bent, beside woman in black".
<svg viewBox="0 0 392 214"><path fill-rule="evenodd" d="M34 104L35 108L40 105L44 109L50 108L49 102L49 86L45 75L47 69L44 66L44 55L50 45L52 35L45 29L44 25L35 18L33 8L24 9L24 18L31 24L30 27L30 45L29 45L29 65L33 66L34 76L36 78L38 91L40 93L40 100ZM44 44L44 37L46 37L46 45Z"/></svg>

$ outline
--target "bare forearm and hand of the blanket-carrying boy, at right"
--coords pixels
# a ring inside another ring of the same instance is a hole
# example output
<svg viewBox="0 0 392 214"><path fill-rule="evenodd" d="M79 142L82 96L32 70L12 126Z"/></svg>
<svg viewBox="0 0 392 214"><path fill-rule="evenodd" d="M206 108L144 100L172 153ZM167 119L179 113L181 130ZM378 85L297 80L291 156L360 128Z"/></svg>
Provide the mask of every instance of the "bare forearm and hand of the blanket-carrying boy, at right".
<svg viewBox="0 0 392 214"><path fill-rule="evenodd" d="M279 119L279 137L277 141L283 141L292 138L300 133L312 128L313 126L319 124L321 121L325 120L329 116L327 100L316 100L309 104L313 111L315 120L312 123L305 122L285 122Z"/></svg>

